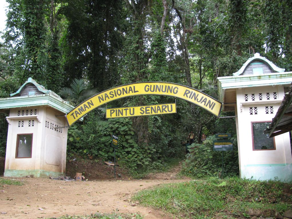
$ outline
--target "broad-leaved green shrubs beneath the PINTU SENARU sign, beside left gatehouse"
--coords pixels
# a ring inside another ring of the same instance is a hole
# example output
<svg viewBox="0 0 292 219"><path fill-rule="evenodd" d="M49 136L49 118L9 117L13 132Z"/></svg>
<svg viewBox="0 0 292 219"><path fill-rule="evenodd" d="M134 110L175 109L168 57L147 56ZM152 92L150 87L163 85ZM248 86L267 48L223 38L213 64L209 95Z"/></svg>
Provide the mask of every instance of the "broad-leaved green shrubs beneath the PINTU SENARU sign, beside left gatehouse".
<svg viewBox="0 0 292 219"><path fill-rule="evenodd" d="M68 153L78 153L89 158L114 160L114 148L111 147L111 134L119 136L116 159L128 166L132 175L142 177L149 170L167 166L167 160L173 157L182 158L183 148L173 136L175 132L166 127L171 126L159 117L149 117L152 126L152 141L140 141L130 118L104 119L103 110L88 113L84 124L74 124L68 130ZM164 123L164 124L162 124ZM165 127L166 126L166 127Z"/></svg>

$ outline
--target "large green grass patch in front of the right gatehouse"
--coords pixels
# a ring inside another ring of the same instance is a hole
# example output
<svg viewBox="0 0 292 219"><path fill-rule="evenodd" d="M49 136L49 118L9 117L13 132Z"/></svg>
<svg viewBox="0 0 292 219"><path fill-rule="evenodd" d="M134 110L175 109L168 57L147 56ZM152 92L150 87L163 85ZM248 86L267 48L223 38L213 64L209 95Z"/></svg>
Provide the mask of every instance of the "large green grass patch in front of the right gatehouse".
<svg viewBox="0 0 292 219"><path fill-rule="evenodd" d="M210 178L143 190L133 200L175 218L249 217L251 210L269 217L292 208L291 187L272 180Z"/></svg>

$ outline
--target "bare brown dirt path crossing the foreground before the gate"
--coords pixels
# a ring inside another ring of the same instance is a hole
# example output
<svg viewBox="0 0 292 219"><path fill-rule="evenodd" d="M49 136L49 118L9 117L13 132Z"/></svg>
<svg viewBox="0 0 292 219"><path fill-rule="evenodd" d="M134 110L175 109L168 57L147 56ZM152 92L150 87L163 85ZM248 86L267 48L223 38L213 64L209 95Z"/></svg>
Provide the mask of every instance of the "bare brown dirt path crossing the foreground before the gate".
<svg viewBox="0 0 292 219"><path fill-rule="evenodd" d="M169 218L160 211L131 206L136 192L164 183L183 182L176 179L179 169L150 175L147 180L63 181L43 178L13 178L22 186L5 185L0 190L0 218L56 218L62 215L90 215L97 211L137 213L145 219ZM12 178L10 178L12 179ZM5 213L6 214L3 214Z"/></svg>

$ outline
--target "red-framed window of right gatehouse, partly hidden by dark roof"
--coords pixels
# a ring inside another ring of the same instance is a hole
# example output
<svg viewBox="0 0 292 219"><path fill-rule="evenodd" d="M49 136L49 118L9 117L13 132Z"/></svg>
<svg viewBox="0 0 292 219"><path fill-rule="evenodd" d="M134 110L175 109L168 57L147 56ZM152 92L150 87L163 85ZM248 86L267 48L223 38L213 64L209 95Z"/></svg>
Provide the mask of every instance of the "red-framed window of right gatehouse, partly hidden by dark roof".
<svg viewBox="0 0 292 219"><path fill-rule="evenodd" d="M253 150L276 150L274 138L269 138L269 134L264 133L270 123L270 121L251 122Z"/></svg>

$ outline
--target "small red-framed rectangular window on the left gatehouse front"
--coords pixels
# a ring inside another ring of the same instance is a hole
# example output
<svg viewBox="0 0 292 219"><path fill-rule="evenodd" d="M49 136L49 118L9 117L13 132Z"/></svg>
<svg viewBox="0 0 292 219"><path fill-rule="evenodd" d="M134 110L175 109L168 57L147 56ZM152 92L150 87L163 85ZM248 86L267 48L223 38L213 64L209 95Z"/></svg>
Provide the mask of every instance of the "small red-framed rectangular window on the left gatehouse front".
<svg viewBox="0 0 292 219"><path fill-rule="evenodd" d="M32 157L32 133L17 134L15 158Z"/></svg>

